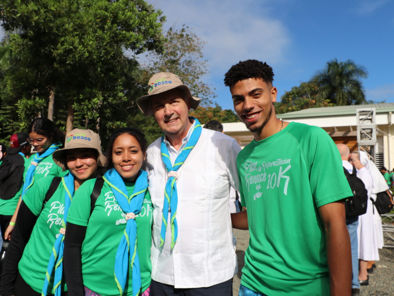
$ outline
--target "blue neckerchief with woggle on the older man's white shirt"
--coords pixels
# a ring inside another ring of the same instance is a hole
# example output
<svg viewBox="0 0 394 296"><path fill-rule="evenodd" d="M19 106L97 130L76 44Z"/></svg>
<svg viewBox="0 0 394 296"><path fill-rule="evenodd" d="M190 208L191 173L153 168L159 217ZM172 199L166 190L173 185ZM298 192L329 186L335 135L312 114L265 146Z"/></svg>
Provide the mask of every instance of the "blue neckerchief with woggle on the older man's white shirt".
<svg viewBox="0 0 394 296"><path fill-rule="evenodd" d="M163 217L162 217L162 229L160 231L160 246L164 244L165 241L165 232L167 231L167 220L168 220L168 211L171 207L171 249L174 248L175 243L177 242L178 237L178 224L175 215L177 214L177 206L178 206L178 193L177 193L177 182L178 178L177 171L185 162L186 158L189 156L191 149L197 144L198 139L201 135L201 124L197 120L197 118L189 117L192 120L195 120L195 126L189 141L186 143L186 146L182 149L182 151L178 154L177 159L175 160L174 165L171 164L171 159L169 156L169 152L167 149L167 145L164 143L164 135L162 136L162 143L160 145L160 152L162 153L162 160L165 164L166 174L168 176L167 183L165 184L164 191L164 204L163 204Z"/></svg>

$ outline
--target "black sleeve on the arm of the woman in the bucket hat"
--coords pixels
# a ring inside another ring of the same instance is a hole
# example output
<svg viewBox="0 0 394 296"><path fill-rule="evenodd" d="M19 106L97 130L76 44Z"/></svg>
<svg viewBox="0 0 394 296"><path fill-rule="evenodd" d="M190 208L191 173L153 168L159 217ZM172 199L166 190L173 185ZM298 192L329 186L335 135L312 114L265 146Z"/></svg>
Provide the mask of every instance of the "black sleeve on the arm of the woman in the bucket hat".
<svg viewBox="0 0 394 296"><path fill-rule="evenodd" d="M6 256L4 257L3 273L0 281L0 296L14 295L18 264L36 221L37 216L30 211L22 200Z"/></svg>

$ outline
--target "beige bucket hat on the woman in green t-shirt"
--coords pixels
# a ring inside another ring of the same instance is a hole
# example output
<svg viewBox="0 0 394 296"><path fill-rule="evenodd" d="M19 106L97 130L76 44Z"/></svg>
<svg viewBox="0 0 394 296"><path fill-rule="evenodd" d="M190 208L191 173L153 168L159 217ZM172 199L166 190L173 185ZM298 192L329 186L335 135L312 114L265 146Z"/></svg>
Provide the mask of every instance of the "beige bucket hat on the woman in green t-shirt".
<svg viewBox="0 0 394 296"><path fill-rule="evenodd" d="M66 141L63 149L56 150L52 153L52 158L55 164L62 168L64 172L67 170L66 164L66 150L74 148L93 148L97 150L99 157L97 163L103 167L107 158L101 152L101 141L99 134L90 129L73 129L66 135Z"/></svg>

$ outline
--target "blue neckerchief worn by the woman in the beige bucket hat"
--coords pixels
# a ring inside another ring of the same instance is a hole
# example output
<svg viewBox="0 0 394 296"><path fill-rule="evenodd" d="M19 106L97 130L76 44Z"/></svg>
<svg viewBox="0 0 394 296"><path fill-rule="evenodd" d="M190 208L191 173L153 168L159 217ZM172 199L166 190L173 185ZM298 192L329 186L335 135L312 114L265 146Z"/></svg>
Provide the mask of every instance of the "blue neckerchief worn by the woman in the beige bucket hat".
<svg viewBox="0 0 394 296"><path fill-rule="evenodd" d="M61 221L61 226L59 231L59 236L56 238L54 246L52 248L52 253L49 257L48 267L45 272L45 280L43 291L41 296L46 296L46 292L48 290L48 285L50 282L50 277L52 275L52 270L55 267L55 275L54 275L54 283L53 290L50 294L54 294L55 296L61 295L61 278L63 276L63 250L64 250L64 235L65 228L67 224L67 213L69 211L72 197L74 196L74 176L71 173L68 173L64 177L61 178L61 182L63 183L64 188L64 215ZM55 265L56 262L56 265Z"/></svg>

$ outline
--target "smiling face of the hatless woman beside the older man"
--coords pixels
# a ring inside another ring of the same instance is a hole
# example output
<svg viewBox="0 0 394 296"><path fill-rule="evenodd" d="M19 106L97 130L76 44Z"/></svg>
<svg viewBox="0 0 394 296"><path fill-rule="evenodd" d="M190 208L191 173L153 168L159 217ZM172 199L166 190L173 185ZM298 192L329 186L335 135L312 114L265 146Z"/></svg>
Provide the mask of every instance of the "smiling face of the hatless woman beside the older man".
<svg viewBox="0 0 394 296"><path fill-rule="evenodd" d="M115 170L126 182L136 182L138 171L145 160L136 138L130 134L121 134L112 146L112 163Z"/></svg>

